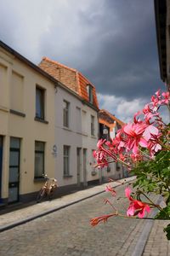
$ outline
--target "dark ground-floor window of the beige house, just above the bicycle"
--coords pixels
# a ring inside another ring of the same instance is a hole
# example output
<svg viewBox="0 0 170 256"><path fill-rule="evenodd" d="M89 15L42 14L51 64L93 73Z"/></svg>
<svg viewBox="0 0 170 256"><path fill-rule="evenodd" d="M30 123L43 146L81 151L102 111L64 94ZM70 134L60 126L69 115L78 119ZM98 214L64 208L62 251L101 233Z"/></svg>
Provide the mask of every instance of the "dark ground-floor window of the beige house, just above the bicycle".
<svg viewBox="0 0 170 256"><path fill-rule="evenodd" d="M35 178L44 175L44 149L45 143L35 142Z"/></svg>

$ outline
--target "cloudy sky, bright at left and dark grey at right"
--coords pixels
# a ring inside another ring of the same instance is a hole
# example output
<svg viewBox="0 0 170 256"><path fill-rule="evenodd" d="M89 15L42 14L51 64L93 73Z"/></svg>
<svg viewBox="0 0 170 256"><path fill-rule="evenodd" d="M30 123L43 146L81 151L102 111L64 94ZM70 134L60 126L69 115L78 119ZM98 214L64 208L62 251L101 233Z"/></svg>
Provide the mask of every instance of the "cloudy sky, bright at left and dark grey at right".
<svg viewBox="0 0 170 256"><path fill-rule="evenodd" d="M0 40L38 64L74 67L99 108L127 121L158 89L153 0L0 0Z"/></svg>

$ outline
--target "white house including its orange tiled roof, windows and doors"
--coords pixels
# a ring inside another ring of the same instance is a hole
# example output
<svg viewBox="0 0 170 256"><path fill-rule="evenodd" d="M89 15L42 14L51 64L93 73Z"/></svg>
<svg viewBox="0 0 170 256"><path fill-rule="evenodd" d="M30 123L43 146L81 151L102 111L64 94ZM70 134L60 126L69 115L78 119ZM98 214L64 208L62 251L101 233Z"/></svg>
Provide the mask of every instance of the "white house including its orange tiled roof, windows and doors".
<svg viewBox="0 0 170 256"><path fill-rule="evenodd" d="M100 173L94 170L93 157L99 136L94 85L77 70L47 57L39 67L67 88L67 92L59 89L55 96L55 142L59 148L55 172L59 185L86 187L99 182ZM63 171L59 172L59 168Z"/></svg>

